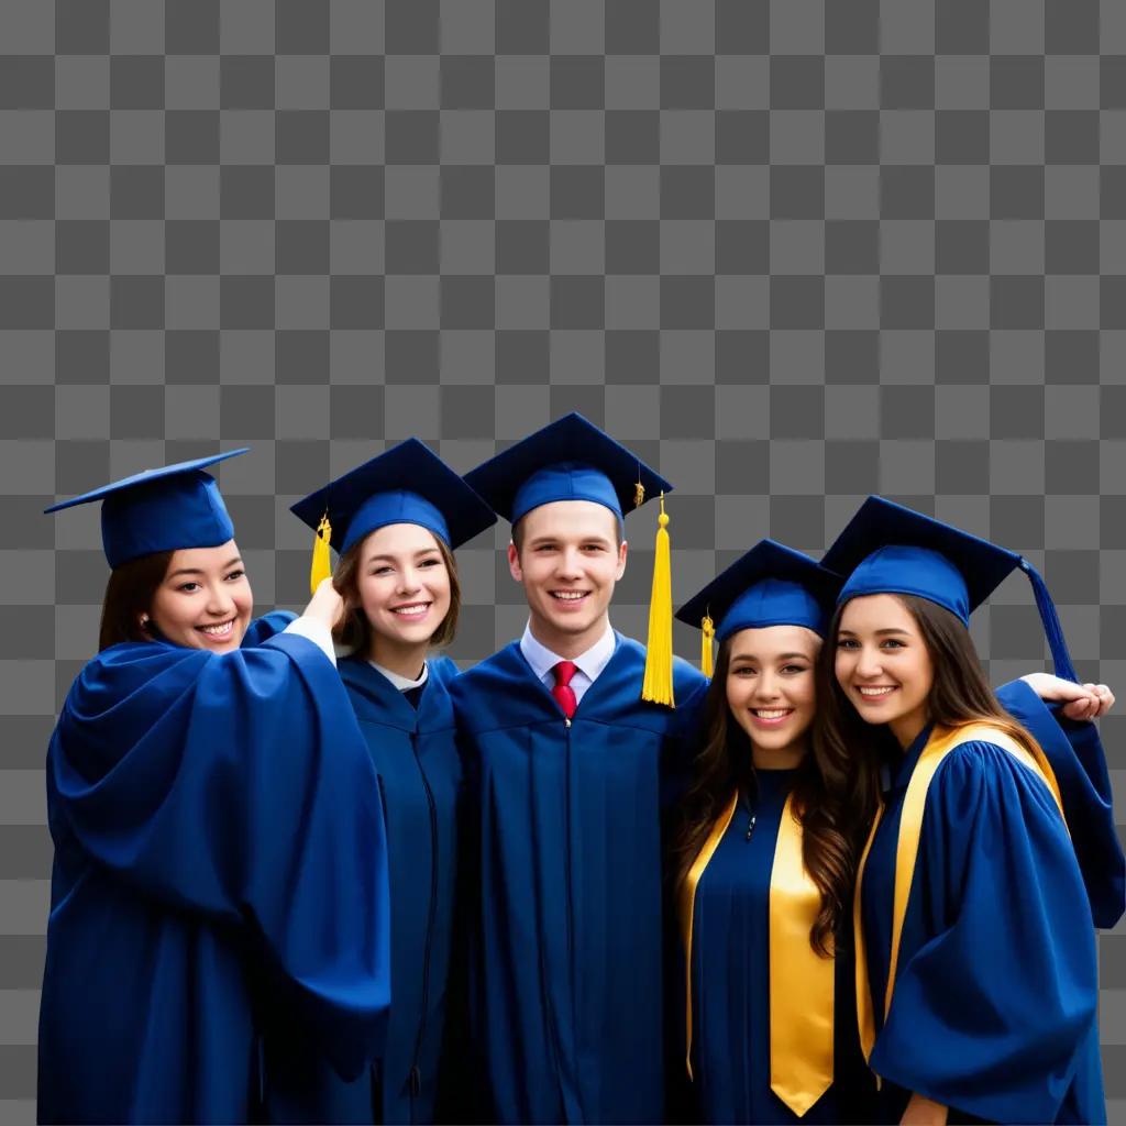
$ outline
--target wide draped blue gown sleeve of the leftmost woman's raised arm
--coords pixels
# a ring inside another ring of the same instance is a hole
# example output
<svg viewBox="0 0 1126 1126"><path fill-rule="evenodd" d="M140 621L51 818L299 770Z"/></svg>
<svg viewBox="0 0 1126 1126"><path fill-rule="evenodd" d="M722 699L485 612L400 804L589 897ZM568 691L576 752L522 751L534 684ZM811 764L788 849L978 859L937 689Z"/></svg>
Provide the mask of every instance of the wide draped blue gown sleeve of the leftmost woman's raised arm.
<svg viewBox="0 0 1126 1126"><path fill-rule="evenodd" d="M249 931L337 1070L364 1069L390 1002L383 811L345 688L312 642L104 651L66 698L47 790L64 863Z"/></svg>

